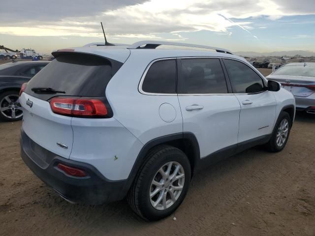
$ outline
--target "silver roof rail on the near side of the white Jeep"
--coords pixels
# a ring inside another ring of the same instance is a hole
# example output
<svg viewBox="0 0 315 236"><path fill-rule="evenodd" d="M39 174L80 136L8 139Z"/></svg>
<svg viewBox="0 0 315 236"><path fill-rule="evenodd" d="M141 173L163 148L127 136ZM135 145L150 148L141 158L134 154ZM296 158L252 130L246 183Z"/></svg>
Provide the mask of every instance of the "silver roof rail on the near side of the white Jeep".
<svg viewBox="0 0 315 236"><path fill-rule="evenodd" d="M141 47L145 45L144 47ZM216 48L212 46L205 46L205 45L198 45L198 44L189 44L189 43L176 43L176 42L165 42L165 41L139 41L136 42L128 47L128 49L155 49L160 45L172 45L172 46L182 46L182 47L192 47L192 48L205 48L205 49L213 49L216 50L218 53L227 53L233 54L231 51L223 49L223 48Z"/></svg>

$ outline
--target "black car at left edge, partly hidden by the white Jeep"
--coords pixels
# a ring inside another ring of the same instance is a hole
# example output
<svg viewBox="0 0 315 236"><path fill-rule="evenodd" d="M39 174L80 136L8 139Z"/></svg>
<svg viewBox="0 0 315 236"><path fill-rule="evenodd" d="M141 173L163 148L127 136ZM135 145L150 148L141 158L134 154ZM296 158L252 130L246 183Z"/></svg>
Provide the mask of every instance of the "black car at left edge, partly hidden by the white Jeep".
<svg viewBox="0 0 315 236"><path fill-rule="evenodd" d="M22 119L23 112L18 103L21 86L48 63L49 61L14 61L0 65L0 119Z"/></svg>

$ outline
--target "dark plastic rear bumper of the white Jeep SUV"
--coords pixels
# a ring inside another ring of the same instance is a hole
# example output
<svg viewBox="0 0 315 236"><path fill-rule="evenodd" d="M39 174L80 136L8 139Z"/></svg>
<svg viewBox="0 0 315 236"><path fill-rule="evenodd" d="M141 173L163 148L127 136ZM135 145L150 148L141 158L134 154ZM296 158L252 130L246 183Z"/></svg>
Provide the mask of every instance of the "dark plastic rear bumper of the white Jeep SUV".
<svg viewBox="0 0 315 236"><path fill-rule="evenodd" d="M74 203L103 204L122 200L126 180L111 181L92 165L65 159L34 143L21 129L21 157L32 172L63 198ZM59 163L80 168L87 177L72 177L57 168Z"/></svg>

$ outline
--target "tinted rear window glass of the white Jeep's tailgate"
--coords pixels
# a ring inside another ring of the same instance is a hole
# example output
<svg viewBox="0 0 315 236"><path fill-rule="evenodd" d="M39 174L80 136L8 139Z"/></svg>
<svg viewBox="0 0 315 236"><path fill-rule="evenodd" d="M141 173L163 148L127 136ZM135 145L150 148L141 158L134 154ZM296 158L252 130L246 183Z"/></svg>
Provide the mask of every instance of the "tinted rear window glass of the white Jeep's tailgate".
<svg viewBox="0 0 315 236"><path fill-rule="evenodd" d="M26 93L47 100L56 95L105 96L105 89L123 63L89 54L60 55L28 83ZM34 93L35 87L52 88L65 93Z"/></svg>

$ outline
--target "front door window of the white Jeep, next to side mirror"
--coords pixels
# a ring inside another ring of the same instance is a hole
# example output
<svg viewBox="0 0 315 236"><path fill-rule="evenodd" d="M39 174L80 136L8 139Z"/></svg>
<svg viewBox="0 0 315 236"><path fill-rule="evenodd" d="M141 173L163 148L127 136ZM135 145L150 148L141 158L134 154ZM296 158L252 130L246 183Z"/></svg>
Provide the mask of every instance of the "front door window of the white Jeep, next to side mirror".
<svg viewBox="0 0 315 236"><path fill-rule="evenodd" d="M248 65L230 59L224 59L234 93L255 93L266 90L262 78Z"/></svg>

